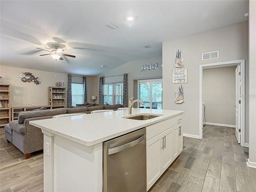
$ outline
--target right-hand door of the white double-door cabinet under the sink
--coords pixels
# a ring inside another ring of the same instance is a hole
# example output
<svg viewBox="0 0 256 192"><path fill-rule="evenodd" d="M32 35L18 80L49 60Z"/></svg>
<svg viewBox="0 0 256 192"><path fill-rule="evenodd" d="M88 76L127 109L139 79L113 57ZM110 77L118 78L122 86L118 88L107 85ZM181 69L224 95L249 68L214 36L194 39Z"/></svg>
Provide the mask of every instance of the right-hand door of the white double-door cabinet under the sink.
<svg viewBox="0 0 256 192"><path fill-rule="evenodd" d="M161 174L172 163L172 128L162 133L162 146L160 149L160 170Z"/></svg>

